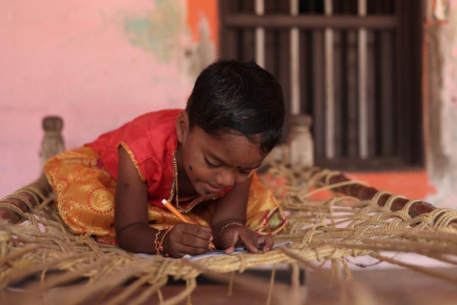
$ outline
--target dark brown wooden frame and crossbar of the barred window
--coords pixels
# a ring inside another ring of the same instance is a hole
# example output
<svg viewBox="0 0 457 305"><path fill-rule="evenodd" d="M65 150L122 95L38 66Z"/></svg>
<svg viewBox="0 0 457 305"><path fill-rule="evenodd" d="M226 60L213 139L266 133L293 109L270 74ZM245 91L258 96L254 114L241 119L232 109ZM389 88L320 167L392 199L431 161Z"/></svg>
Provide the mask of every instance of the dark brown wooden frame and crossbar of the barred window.
<svg viewBox="0 0 457 305"><path fill-rule="evenodd" d="M376 30L392 30L395 31L394 40L394 71L395 81L391 88L391 96L395 100L391 104L394 107L392 111L396 113L396 117L391 122L395 130L393 137L383 139L384 143L391 143L396 149L394 156L371 157L368 159L360 158L339 158L329 160L322 157L323 152L318 151L315 158L316 165L332 167L342 170L408 170L422 168L424 165L424 148L423 148L423 120L422 120L422 1L417 0L395 0L395 15L367 15L360 17L357 15L332 15L324 14L302 14L292 16L287 12L275 14L256 15L255 13L234 13L231 12L230 0L219 1L220 12L220 57L236 58L248 60L248 58L240 58L240 54L246 48L253 48L252 45L237 45L236 31L229 29L255 29L262 27L266 31L276 29L276 43L281 43L281 48L275 54L277 58L281 58L283 64L276 67L276 74L283 85L284 97L286 106L290 105L288 101L291 98L289 88L284 84L290 82L289 66L284 62L290 62L289 57L289 30L292 27L298 27L301 31L319 31L326 27L333 29L376 29ZM280 2L281 3L281 2ZM246 35L246 41L255 39L253 33L243 33ZM250 40L249 40L250 39ZM268 40L268 39L267 39ZM271 39L270 39L271 40ZM267 43L267 42L266 42ZM234 49L233 46L238 46ZM312 46L301 46L312 48ZM312 51L312 50L310 50ZM250 50L252 53L252 50ZM380 51L382 52L382 50ZM248 52L249 53L249 52ZM268 61L268 56L265 56ZM250 59L250 58L249 58ZM305 68L306 69L306 68ZM302 69L301 69L302 70ZM275 74L275 73L273 73ZM305 75L300 77L301 90L307 90ZM305 78L305 79L303 79ZM321 84L322 85L322 84ZM324 89L324 88L322 88ZM389 88L381 88L389 90ZM321 91L321 88L312 88L312 90ZM355 93L357 94L357 93ZM322 97L321 97L322 98ZM307 112L307 105L301 105L302 113ZM319 114L323 118L325 116L324 107L321 110L314 109L314 114ZM325 144L319 141L325 141L323 137L324 126L319 127L319 124L324 124L322 120L314 117L313 134L317 147L324 147ZM383 127L383 128L389 128ZM285 134L287 135L288 126L285 126ZM405 141L404 139L408 139ZM378 139L379 140L379 139ZM321 156L321 157L319 157Z"/></svg>

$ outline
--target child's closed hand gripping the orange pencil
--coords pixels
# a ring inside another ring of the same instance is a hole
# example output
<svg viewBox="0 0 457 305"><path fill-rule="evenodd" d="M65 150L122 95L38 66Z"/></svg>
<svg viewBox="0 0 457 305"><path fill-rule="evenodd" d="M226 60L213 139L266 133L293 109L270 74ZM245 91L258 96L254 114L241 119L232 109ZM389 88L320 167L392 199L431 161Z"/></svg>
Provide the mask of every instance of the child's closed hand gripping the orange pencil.
<svg viewBox="0 0 457 305"><path fill-rule="evenodd" d="M211 250L213 232L210 227L178 223L165 236L164 252L173 257L201 254Z"/></svg>

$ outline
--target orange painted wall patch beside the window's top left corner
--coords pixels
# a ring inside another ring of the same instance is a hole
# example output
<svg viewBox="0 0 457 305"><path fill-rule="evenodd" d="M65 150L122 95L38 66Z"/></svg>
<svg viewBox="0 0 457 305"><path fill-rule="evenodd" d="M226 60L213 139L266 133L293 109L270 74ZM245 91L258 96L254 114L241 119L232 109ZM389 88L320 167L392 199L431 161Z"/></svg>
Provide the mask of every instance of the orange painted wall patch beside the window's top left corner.
<svg viewBox="0 0 457 305"><path fill-rule="evenodd" d="M200 40L198 30L200 14L204 14L207 18L211 30L210 38L217 45L219 34L217 0L187 0L187 25L194 42Z"/></svg>

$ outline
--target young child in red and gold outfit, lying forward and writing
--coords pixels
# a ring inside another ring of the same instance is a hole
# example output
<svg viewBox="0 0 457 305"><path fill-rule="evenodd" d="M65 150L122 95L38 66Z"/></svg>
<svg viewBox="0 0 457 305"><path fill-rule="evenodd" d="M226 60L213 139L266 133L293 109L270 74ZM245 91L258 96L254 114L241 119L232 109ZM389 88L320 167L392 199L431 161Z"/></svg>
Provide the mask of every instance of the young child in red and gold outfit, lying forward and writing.
<svg viewBox="0 0 457 305"><path fill-rule="evenodd" d="M281 86L255 62L219 60L198 76L186 110L140 116L44 171L75 234L135 253L182 257L214 243L267 252L284 214L256 173L282 134ZM193 223L180 223L169 200Z"/></svg>

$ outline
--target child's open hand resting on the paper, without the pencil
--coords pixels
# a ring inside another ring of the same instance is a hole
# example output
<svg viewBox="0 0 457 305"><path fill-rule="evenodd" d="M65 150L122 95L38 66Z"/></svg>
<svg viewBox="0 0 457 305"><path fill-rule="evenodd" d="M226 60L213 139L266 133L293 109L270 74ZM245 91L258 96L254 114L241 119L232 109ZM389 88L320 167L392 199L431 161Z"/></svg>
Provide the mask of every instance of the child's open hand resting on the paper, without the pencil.
<svg viewBox="0 0 457 305"><path fill-rule="evenodd" d="M246 226L231 225L222 231L220 244L225 249L225 254L232 254L235 247L241 244L244 244L249 253L259 253L259 247L262 247L263 252L272 248L273 238L270 235L257 236Z"/></svg>

